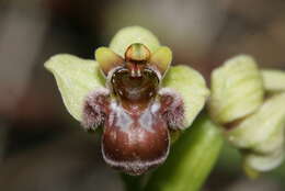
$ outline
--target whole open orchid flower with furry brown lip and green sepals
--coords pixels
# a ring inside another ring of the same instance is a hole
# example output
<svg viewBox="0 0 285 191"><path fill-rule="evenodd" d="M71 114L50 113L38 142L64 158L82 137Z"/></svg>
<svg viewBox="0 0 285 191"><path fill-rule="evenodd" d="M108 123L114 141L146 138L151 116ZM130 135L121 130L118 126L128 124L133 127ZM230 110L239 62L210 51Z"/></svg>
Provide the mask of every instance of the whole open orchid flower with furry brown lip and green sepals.
<svg viewBox="0 0 285 191"><path fill-rule="evenodd" d="M95 60L60 54L45 67L83 128L103 128L106 164L137 176L163 164L170 133L191 126L209 94L197 71L171 63L171 49L151 32L129 26L98 48Z"/></svg>

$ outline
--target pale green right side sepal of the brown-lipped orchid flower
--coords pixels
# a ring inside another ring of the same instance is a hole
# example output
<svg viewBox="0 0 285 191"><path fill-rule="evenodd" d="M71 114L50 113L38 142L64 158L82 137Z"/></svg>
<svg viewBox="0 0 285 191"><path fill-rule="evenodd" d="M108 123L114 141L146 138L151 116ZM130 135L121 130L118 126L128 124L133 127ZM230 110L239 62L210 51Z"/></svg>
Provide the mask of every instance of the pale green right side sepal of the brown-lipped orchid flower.
<svg viewBox="0 0 285 191"><path fill-rule="evenodd" d="M163 88L172 88L182 96L185 105L185 121L190 126L204 108L209 91L202 75L187 66L170 67L162 80Z"/></svg>

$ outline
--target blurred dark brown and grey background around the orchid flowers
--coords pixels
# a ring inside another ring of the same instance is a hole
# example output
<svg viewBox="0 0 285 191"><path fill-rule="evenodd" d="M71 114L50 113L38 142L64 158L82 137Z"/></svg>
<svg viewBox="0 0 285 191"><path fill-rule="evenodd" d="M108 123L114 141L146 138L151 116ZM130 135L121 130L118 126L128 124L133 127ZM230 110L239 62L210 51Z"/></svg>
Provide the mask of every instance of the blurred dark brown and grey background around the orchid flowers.
<svg viewBox="0 0 285 191"><path fill-rule="evenodd" d="M69 53L92 58L128 25L151 30L208 79L214 67L250 54L285 69L284 0L0 0L0 190L121 191L100 137L65 110L43 64ZM258 180L226 145L204 191L284 191L285 165Z"/></svg>

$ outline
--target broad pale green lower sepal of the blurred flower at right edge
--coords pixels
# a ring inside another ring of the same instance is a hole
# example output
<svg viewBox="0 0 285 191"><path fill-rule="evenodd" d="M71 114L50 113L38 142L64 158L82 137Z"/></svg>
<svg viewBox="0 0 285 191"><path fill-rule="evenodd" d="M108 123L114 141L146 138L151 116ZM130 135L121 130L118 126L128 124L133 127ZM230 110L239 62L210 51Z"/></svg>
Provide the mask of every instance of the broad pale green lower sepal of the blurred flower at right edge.
<svg viewBox="0 0 285 191"><path fill-rule="evenodd" d="M228 139L237 147L271 153L284 142L285 93L267 99L252 115L246 117L231 131Z"/></svg>

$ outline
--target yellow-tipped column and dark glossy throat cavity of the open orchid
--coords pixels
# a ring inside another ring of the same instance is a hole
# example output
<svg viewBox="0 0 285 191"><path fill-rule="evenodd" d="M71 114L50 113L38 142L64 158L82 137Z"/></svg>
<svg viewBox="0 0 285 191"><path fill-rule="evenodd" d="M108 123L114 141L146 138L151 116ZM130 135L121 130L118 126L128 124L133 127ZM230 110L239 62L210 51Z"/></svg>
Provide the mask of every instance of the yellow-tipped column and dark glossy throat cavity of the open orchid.
<svg viewBox="0 0 285 191"><path fill-rule="evenodd" d="M132 44L125 53L123 67L111 78L114 93L130 112L146 109L158 92L159 78L148 68L149 59L150 52L145 45Z"/></svg>

